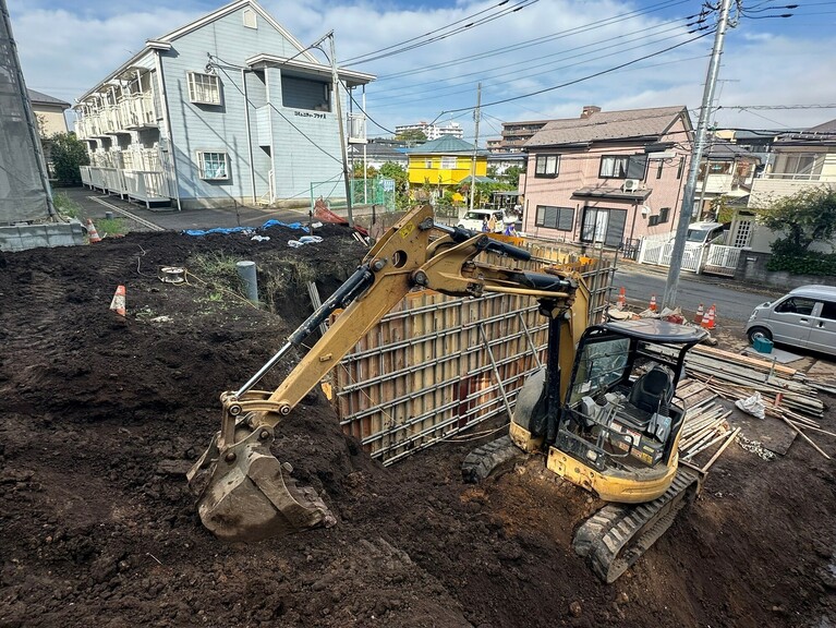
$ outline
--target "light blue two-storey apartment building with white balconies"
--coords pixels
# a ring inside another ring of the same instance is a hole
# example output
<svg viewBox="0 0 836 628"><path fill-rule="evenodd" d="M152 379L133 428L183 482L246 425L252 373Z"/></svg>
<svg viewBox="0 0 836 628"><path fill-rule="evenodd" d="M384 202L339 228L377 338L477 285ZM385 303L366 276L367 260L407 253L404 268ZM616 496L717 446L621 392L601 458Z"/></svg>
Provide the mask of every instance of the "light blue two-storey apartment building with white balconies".
<svg viewBox="0 0 836 628"><path fill-rule="evenodd" d="M338 70L349 89L369 74ZM339 89L340 97L344 90ZM255 0L145 43L77 99L85 183L146 203L307 202L342 172L332 69ZM344 100L349 141L364 119Z"/></svg>

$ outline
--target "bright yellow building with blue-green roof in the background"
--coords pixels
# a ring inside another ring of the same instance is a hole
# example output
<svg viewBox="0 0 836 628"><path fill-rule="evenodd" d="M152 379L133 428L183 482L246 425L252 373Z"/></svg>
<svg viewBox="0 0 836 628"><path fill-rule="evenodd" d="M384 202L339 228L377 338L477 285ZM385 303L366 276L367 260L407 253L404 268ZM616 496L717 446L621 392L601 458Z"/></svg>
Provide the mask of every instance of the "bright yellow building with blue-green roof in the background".
<svg viewBox="0 0 836 628"><path fill-rule="evenodd" d="M410 148L410 186L437 186L438 191L458 189L470 181L473 170L474 146L463 140L443 136ZM476 150L476 182L490 182L487 178L487 152Z"/></svg>

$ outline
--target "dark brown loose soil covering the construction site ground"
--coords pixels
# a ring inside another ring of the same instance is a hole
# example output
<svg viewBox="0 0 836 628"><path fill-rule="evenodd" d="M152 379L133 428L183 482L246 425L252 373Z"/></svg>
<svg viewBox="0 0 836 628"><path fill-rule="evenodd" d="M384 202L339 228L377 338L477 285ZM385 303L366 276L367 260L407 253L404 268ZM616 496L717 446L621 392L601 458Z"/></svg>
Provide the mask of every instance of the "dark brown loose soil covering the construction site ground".
<svg viewBox="0 0 836 628"><path fill-rule="evenodd" d="M481 486L459 471L475 440L383 468L311 395L274 450L338 524L215 539L184 471L219 427L218 395L310 314L306 281L325 297L364 254L340 227L300 249L283 228L267 234L133 233L0 254L0 626L836 623L834 464L800 440L773 461L728 448L693 507L606 585L571 551L601 503L542 458ZM202 277L206 255L255 261L267 306ZM169 265L189 283L161 282ZM109 311L120 283L124 318ZM828 410L823 426L835 424ZM828 438L817 440L834 452Z"/></svg>

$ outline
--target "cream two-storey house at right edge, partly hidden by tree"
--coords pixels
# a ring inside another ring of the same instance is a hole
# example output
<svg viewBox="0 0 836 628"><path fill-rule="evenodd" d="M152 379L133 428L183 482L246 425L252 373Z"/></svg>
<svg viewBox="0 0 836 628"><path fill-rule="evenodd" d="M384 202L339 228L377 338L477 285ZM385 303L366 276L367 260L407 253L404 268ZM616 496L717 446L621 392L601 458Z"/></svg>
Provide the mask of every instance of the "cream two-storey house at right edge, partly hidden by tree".
<svg viewBox="0 0 836 628"><path fill-rule="evenodd" d="M756 210L783 196L822 185L836 190L836 120L783 133L775 140L768 165L752 181L748 207L735 216L732 241L768 253L778 234L758 225Z"/></svg>

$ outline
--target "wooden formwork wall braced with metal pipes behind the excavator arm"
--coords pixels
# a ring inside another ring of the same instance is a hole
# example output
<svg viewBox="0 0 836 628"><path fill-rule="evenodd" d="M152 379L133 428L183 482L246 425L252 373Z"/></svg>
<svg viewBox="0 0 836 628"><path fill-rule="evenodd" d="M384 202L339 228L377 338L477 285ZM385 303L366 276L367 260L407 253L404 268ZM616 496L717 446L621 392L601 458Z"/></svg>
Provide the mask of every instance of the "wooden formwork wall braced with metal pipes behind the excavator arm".
<svg viewBox="0 0 836 628"><path fill-rule="evenodd" d="M596 322L613 267L587 259L582 270L592 290L590 322ZM340 424L389 464L510 414L525 378L545 360L547 333L548 321L530 297L412 292L335 369Z"/></svg>

